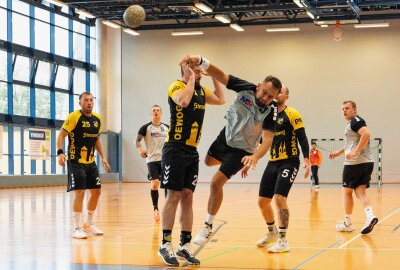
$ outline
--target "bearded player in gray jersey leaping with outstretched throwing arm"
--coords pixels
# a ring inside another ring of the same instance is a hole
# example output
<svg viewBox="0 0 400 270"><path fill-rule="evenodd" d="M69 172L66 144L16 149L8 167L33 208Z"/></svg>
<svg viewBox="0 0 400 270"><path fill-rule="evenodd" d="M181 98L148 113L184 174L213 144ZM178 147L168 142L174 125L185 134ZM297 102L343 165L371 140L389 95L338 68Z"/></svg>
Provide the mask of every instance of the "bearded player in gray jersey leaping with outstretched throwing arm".
<svg viewBox="0 0 400 270"><path fill-rule="evenodd" d="M207 166L220 167L211 180L208 215L193 240L195 244L204 245L212 236L212 225L222 204L225 183L244 166L255 169L257 161L271 146L277 113L273 99L280 92L282 84L273 76L267 76L257 85L250 83L226 74L199 55L189 55L183 62L200 65L212 78L237 93L225 115L227 124L205 158Z"/></svg>

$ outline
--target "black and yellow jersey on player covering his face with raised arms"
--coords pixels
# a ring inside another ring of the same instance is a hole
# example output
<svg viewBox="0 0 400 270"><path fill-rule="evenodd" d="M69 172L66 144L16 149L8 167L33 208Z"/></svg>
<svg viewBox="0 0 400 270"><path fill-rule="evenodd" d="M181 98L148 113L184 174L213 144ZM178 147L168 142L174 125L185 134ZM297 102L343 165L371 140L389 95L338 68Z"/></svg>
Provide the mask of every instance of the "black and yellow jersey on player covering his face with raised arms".
<svg viewBox="0 0 400 270"><path fill-rule="evenodd" d="M212 91L196 84L189 106L183 108L176 104L173 98L176 94L183 91L185 87L186 83L175 81L168 88L171 124L165 141L197 147L200 142L201 128L206 109L206 96L210 95Z"/></svg>

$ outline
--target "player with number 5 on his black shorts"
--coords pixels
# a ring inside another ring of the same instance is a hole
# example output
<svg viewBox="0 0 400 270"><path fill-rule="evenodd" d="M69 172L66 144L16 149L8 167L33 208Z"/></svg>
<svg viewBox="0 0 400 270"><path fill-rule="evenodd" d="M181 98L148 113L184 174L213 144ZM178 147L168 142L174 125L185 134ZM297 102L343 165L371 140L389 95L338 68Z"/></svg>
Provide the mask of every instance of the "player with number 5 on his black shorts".
<svg viewBox="0 0 400 270"><path fill-rule="evenodd" d="M300 113L289 106L286 101L289 98L289 89L282 86L282 90L276 97L278 103L278 116L275 126L275 136L272 142L270 157L260 182L258 206L267 223L268 232L259 241L257 246L264 247L268 243L277 241L268 252L280 253L290 251L286 239L289 225L289 207L287 197L297 176L300 167L300 144L304 157L306 177L309 174L309 145ZM242 173L243 176L247 172ZM271 201L275 200L278 216L278 229L275 225L274 212Z"/></svg>

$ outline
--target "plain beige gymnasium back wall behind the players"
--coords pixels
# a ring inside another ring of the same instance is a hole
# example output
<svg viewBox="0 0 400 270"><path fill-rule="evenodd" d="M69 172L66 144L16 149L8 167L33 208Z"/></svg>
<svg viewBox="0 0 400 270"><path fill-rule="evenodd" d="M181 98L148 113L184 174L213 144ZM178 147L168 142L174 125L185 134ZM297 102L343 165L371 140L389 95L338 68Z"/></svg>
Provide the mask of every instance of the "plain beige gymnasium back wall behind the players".
<svg viewBox="0 0 400 270"><path fill-rule="evenodd" d="M331 39L332 26L313 24L284 33L267 33L264 26L245 27L245 32L229 27L202 29L205 35L192 37L173 37L170 30L141 31L140 36L122 33L123 181L147 181L145 161L134 143L136 134L150 121L153 104L163 108L163 121L169 122L167 88L180 78L179 60L192 53L254 83L270 74L279 77L290 89L288 105L303 115L309 138L342 137L346 125L342 101L355 100L372 136L383 139L383 182L399 182L400 24L390 24L382 29L343 26L340 42ZM202 84L212 86L209 78ZM207 107L201 161L224 126L224 113L235 97L230 90L225 93L224 106ZM266 162L261 160L246 181L258 182ZM216 170L201 162L199 181L208 182ZM303 180L302 174L297 181ZM232 181L242 180L237 175Z"/></svg>

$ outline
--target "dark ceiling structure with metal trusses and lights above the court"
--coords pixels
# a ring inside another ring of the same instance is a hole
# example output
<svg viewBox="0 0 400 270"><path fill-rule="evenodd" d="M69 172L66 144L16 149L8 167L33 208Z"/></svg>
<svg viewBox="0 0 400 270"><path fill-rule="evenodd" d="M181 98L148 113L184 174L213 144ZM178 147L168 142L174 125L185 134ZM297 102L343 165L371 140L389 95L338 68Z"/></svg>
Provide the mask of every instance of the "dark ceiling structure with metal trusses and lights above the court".
<svg viewBox="0 0 400 270"><path fill-rule="evenodd" d="M123 22L130 5L146 11L145 22L135 30L220 27L226 24L215 18L224 15L230 23L277 25L315 23L365 23L400 19L400 1L377 0L62 0L69 7L86 10L96 18ZM196 8L202 3L212 9ZM313 17L313 19L312 19Z"/></svg>

